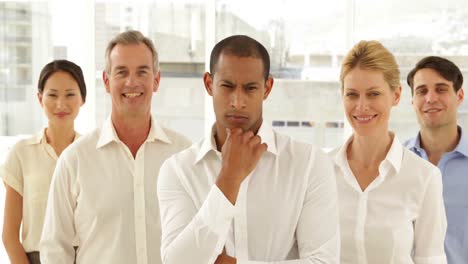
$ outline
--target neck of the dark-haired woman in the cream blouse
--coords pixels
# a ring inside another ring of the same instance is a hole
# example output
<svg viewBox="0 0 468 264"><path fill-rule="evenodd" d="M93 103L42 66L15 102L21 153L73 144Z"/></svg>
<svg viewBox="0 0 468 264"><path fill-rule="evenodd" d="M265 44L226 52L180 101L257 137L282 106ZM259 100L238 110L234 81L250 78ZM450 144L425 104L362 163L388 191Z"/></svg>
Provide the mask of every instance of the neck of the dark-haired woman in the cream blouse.
<svg viewBox="0 0 468 264"><path fill-rule="evenodd" d="M75 139L75 128L73 122L67 125L56 125L49 123L46 128L47 143L52 146L57 156L70 145Z"/></svg>

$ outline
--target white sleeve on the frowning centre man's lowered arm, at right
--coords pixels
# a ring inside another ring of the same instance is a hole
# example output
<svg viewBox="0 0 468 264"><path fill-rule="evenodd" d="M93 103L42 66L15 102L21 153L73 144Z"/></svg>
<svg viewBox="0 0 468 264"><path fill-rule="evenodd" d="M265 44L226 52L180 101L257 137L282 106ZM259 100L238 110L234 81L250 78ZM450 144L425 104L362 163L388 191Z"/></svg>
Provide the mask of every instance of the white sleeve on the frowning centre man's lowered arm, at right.
<svg viewBox="0 0 468 264"><path fill-rule="evenodd" d="M338 195L331 159L319 150L311 154L302 213L296 228L299 259L238 264L338 264L340 259Z"/></svg>

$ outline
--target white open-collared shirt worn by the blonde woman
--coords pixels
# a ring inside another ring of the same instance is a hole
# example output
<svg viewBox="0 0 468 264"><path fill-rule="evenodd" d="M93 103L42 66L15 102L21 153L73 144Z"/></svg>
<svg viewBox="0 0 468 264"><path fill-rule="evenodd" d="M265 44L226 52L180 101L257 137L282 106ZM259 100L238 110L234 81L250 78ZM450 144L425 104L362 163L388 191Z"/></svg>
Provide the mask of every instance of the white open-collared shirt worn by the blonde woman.
<svg viewBox="0 0 468 264"><path fill-rule="evenodd" d="M379 175L362 191L346 156L335 157L342 264L447 263L447 227L439 169L395 136Z"/></svg>

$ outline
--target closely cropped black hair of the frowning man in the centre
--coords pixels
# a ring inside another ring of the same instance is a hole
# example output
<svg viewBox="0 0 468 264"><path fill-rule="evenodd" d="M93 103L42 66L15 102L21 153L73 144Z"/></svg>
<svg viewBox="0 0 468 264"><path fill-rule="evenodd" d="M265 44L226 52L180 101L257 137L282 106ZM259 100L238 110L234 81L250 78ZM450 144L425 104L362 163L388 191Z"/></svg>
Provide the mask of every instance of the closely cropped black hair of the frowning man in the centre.
<svg viewBox="0 0 468 264"><path fill-rule="evenodd" d="M245 35L233 35L218 42L210 56L210 73L215 73L216 64L221 54L237 57L254 57L263 62L265 80L270 76L270 55L266 48L255 39Z"/></svg>

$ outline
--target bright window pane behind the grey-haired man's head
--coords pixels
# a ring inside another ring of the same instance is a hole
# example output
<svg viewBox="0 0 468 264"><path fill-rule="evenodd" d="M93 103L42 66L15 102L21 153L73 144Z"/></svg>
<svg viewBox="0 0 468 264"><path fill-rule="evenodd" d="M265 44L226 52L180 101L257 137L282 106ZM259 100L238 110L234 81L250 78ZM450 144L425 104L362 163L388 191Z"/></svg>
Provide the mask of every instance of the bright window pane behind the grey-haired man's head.
<svg viewBox="0 0 468 264"><path fill-rule="evenodd" d="M96 121L109 115L111 99L102 84L107 42L119 32L136 29L158 50L161 83L153 114L192 140L203 135L205 5L203 1L96 1Z"/></svg>

